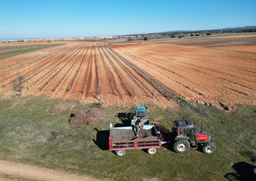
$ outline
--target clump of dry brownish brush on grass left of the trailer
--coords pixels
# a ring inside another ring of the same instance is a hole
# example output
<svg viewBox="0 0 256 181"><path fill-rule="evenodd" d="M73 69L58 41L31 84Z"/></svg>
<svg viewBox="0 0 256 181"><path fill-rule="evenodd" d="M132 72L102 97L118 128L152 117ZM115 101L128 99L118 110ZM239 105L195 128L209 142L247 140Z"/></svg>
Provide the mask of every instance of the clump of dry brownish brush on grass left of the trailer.
<svg viewBox="0 0 256 181"><path fill-rule="evenodd" d="M72 128L81 127L82 125L94 125L99 122L102 112L97 108L89 109L88 111L76 111L73 117L70 118Z"/></svg>

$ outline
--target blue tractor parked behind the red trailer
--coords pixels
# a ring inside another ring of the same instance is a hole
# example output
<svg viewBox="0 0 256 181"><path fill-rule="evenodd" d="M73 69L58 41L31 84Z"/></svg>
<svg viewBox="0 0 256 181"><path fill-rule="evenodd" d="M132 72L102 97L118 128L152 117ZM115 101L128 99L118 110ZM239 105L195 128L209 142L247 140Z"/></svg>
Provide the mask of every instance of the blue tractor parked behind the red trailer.
<svg viewBox="0 0 256 181"><path fill-rule="evenodd" d="M131 125L135 125L138 118L141 119L142 124L150 124L150 120L147 117L147 107L146 106L136 106L134 108L134 117L131 120Z"/></svg>

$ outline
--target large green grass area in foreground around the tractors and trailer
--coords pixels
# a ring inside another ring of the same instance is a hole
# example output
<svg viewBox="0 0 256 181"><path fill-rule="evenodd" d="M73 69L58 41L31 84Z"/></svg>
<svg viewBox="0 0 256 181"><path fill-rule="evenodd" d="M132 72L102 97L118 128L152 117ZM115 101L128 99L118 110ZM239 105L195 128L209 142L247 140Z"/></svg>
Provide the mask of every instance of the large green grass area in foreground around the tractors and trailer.
<svg viewBox="0 0 256 181"><path fill-rule="evenodd" d="M152 123L166 129L172 129L175 119L193 118L197 125L204 122L204 129L217 141L217 152L206 155L190 150L179 155L162 147L156 155L130 150L118 157L100 149L93 140L104 144L104 138L99 138L107 133L104 130L109 129L109 123L121 123L116 113L127 113L131 107L15 96L0 97L0 159L113 180L227 180L225 174L236 173L233 164L244 161L255 165L251 161L256 150L255 106L241 105L234 114L186 101L180 102L179 111L147 106ZM103 112L101 123L70 128L71 113L93 107ZM218 123L220 120L225 123ZM94 128L99 130L98 138ZM57 138L52 135L56 132Z"/></svg>

